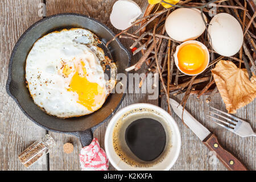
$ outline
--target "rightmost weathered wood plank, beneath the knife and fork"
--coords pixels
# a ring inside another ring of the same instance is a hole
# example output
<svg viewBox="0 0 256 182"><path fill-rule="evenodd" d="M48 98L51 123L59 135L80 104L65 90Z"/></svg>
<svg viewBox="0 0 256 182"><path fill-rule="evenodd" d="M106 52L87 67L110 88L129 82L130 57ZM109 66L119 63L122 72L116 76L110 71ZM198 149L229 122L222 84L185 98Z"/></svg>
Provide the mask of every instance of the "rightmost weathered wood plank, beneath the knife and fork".
<svg viewBox="0 0 256 182"><path fill-rule="evenodd" d="M184 94L180 94L172 98L180 102L183 96ZM205 114L209 114L209 104L205 102L207 97L208 96L201 96L200 99L197 99L196 96L190 96L185 108L205 127L216 134L223 147L232 152L238 159L241 159L247 168L255 170L255 138L241 138L215 123L207 121L205 117ZM237 117L250 122L254 130L256 125L255 103L256 101L254 100L249 105L239 109L237 114L235 114ZM161 104L162 107L167 110L165 98L162 98ZM226 111L225 104L222 102L219 93L214 95L210 106ZM180 156L174 167L172 167L172 170L226 170L223 164L213 156L213 152L210 152L208 148L204 146L199 138L182 123L181 119L177 117L175 113L172 114L172 117L174 117L179 126L182 142Z"/></svg>

